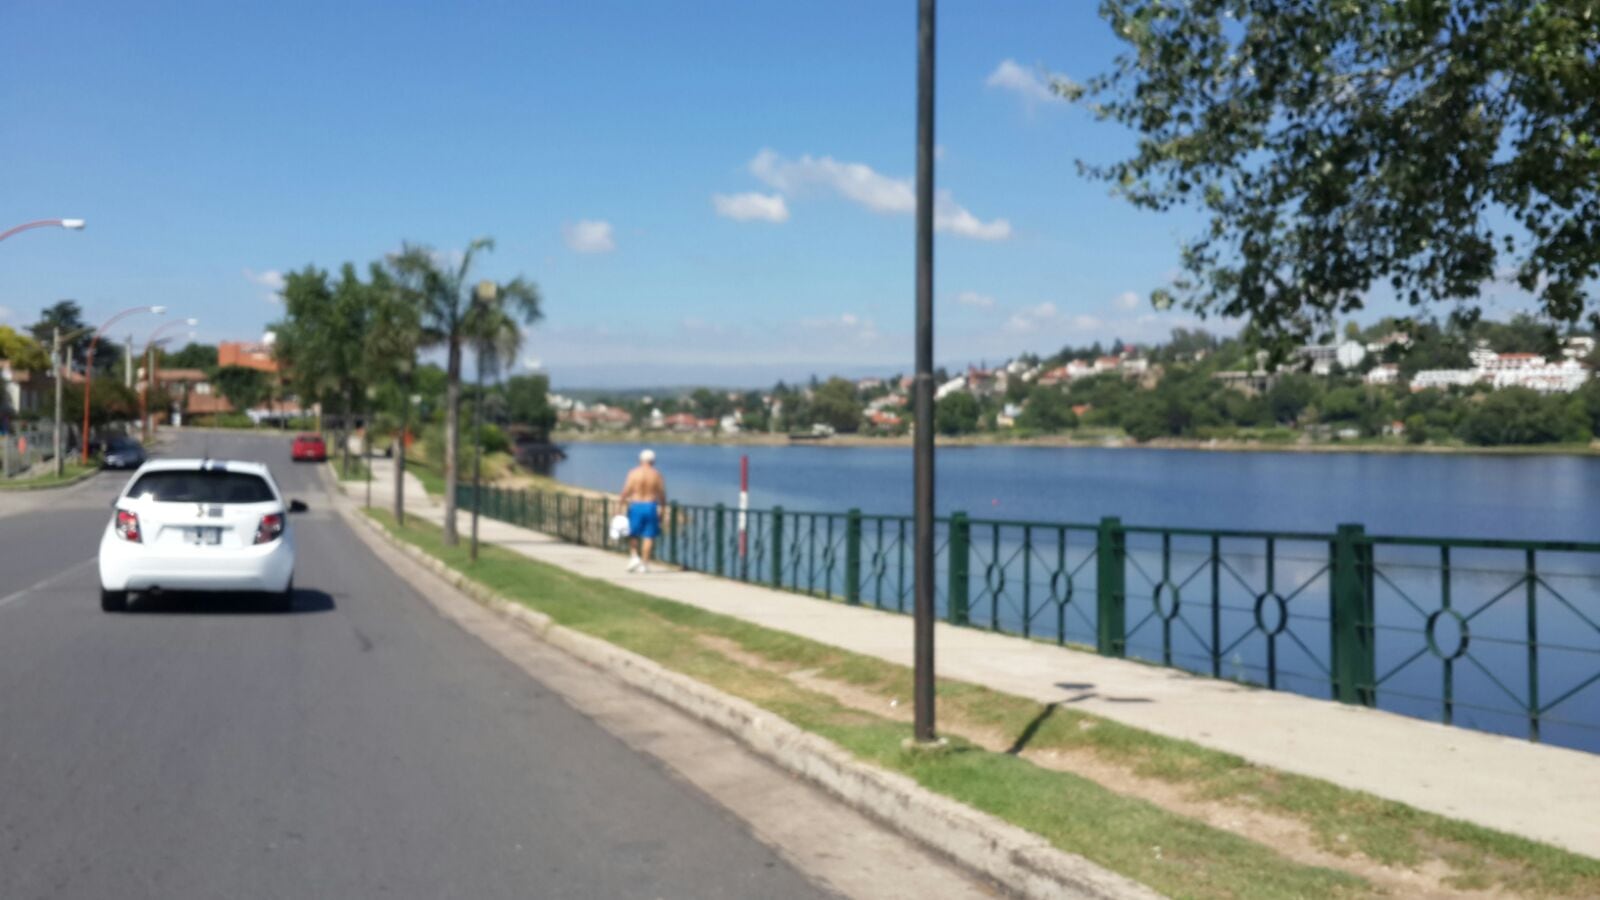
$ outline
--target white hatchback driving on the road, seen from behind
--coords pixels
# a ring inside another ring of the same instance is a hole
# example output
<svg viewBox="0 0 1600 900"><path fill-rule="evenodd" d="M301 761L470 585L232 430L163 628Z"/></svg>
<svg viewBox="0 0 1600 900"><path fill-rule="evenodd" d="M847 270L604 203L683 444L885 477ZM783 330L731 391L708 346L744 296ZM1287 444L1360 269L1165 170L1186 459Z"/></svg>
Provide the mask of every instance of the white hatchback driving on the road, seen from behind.
<svg viewBox="0 0 1600 900"><path fill-rule="evenodd" d="M101 538L101 609L122 612L130 591L256 591L294 602L294 532L261 463L152 460L112 503Z"/></svg>

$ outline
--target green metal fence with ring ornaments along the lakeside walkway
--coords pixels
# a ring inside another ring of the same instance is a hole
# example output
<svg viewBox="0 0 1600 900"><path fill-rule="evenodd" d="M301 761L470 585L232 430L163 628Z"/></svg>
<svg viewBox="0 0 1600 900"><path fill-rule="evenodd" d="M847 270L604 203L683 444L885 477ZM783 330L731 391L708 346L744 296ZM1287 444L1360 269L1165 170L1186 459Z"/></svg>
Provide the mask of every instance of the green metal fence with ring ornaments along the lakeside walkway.
<svg viewBox="0 0 1600 900"><path fill-rule="evenodd" d="M459 503L470 509L474 488ZM608 496L483 488L485 516L622 549ZM742 540L741 540L742 524ZM688 570L909 612L912 519L669 506ZM1600 543L936 519L952 625L1600 749Z"/></svg>

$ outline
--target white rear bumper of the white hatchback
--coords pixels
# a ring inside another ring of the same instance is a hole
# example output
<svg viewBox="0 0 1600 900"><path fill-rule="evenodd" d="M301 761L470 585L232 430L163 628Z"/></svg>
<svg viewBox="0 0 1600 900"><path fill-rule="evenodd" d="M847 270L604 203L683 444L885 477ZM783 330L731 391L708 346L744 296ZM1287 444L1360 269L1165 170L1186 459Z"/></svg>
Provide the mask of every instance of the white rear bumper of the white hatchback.
<svg viewBox="0 0 1600 900"><path fill-rule="evenodd" d="M294 577L294 544L270 544L208 552L162 552L130 544L107 532L101 538L99 578L107 591L283 591Z"/></svg>

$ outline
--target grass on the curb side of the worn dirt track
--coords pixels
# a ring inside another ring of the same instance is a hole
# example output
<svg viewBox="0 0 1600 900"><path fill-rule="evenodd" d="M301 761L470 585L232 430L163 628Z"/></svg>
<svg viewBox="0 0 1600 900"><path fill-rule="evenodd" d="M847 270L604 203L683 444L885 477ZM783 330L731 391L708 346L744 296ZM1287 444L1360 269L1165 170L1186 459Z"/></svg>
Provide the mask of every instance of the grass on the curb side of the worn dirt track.
<svg viewBox="0 0 1600 900"><path fill-rule="evenodd" d="M990 753L955 738L947 753L907 753L910 729L802 689L779 673L746 665L696 642L698 634L734 641L763 658L805 668L877 663L802 637L770 631L683 604L661 601L531 560L498 546L443 544L437 525L411 520L397 528L384 511L370 511L390 533L469 573L490 589L718 690L757 703L819 733L858 757L906 773L923 786L1042 834L1054 846L1174 897L1342 897L1368 895L1360 878L1291 862L1270 847L1221 831L1155 804L1101 788L1088 778ZM907 674L909 677L909 674ZM941 685L947 697L952 687Z"/></svg>

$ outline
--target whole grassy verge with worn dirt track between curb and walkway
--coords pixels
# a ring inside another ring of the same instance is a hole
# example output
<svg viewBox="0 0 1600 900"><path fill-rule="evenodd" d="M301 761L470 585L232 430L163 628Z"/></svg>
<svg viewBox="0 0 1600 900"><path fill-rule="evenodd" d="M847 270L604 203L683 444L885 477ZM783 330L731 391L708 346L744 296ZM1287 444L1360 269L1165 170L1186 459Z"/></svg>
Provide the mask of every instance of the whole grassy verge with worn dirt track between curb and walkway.
<svg viewBox="0 0 1600 900"><path fill-rule="evenodd" d="M941 681L944 753L907 753L910 671L370 512L486 588L750 700L858 757L1174 897L1600 894L1600 860Z"/></svg>

